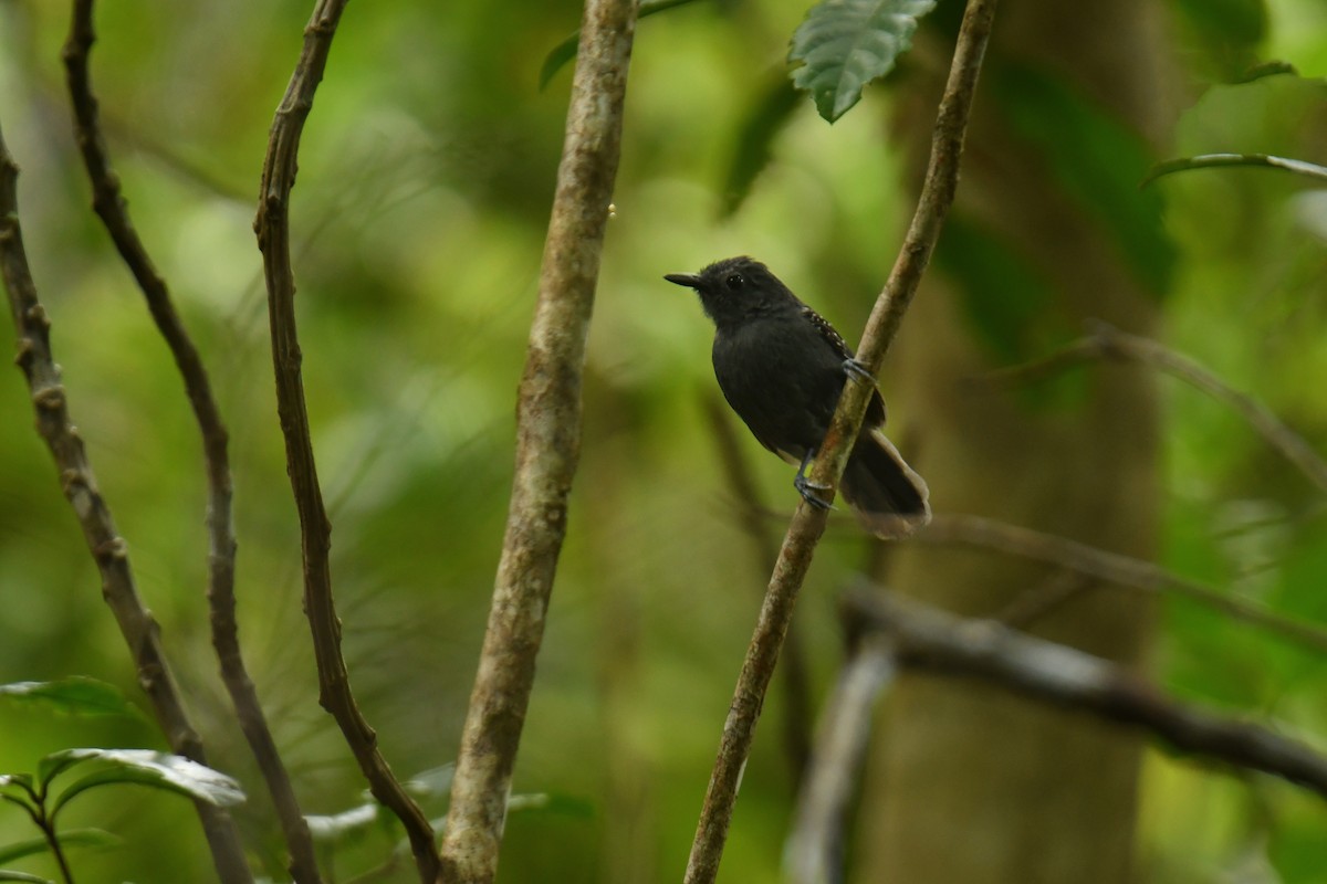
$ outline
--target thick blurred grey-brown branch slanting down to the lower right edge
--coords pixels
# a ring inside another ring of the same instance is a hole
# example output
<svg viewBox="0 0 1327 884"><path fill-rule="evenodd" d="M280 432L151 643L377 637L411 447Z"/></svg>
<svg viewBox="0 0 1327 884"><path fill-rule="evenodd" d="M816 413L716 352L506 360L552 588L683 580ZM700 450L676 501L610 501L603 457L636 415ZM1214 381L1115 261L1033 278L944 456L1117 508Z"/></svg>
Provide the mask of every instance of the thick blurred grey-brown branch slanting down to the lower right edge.
<svg viewBox="0 0 1327 884"><path fill-rule="evenodd" d="M1018 693L1143 728L1174 749L1274 774L1327 798L1327 758L1255 724L1176 702L1125 668L993 620L965 620L863 588L847 604L898 643L901 663L994 681Z"/></svg>

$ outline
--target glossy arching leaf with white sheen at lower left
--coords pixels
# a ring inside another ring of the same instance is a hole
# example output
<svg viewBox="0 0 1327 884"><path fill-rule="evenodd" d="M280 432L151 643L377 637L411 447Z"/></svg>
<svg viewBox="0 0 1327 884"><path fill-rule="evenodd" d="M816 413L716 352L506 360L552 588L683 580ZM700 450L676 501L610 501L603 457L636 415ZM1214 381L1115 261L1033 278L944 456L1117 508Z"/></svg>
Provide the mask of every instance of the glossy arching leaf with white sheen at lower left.
<svg viewBox="0 0 1327 884"><path fill-rule="evenodd" d="M76 795L110 783L150 786L219 807L244 801L239 783L226 774L182 755L150 749L64 749L42 758L38 773L42 782L49 783L56 774L85 761L100 761L104 766L65 789L56 799L52 815Z"/></svg>

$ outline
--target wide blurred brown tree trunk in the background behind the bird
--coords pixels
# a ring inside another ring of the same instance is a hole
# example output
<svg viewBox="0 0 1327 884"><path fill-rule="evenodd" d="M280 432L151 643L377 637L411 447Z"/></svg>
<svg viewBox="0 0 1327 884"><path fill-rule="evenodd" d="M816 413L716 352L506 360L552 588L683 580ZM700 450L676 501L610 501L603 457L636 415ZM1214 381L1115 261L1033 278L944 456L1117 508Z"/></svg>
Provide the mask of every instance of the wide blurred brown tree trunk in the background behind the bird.
<svg viewBox="0 0 1327 884"><path fill-rule="evenodd" d="M950 249L886 366L894 414L908 421L905 451L938 513L989 516L1143 558L1154 551L1158 417L1147 371L1089 366L1030 390L971 378L1047 353L1080 334L1085 318L1156 331L1166 276L1160 227L1156 241L1131 244L1149 233L1093 205L1091 180L1064 179L1089 178L1093 167L1072 154L1084 119L1113 121L1141 154L1168 130L1158 13L1145 0L1010 0L1001 9L945 231ZM1034 95L1044 83L1055 86ZM920 167L938 83L901 94L916 97L898 131ZM1116 196L1141 199L1135 193ZM991 249L1002 257L981 257ZM1022 270L991 278L986 269L1009 266ZM1034 281L1050 300L1031 297ZM983 319L1019 304L1027 306L1016 326ZM998 555L908 546L888 580L953 611L998 616L1066 578ZM1030 628L1141 665L1152 620L1137 594L1087 584ZM985 684L908 676L865 783L857 880L1127 881L1141 751L1132 734Z"/></svg>

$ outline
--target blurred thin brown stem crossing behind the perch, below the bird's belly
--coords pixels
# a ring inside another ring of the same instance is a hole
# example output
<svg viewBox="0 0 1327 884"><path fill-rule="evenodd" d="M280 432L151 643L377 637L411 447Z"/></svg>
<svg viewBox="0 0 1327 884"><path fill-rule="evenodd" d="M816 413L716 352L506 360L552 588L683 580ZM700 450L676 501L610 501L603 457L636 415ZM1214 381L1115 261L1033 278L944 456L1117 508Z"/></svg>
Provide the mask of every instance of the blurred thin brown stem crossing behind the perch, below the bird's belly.
<svg viewBox="0 0 1327 884"><path fill-rule="evenodd" d="M742 530L751 538L756 554L756 565L763 571L774 567L779 558L778 541L764 518L764 506L756 490L751 464L742 452L738 436L733 432L733 417L717 396L705 400L705 414L714 429L719 459L723 461L723 474L733 486L738 500ZM798 789L811 758L811 679L807 673L807 655L796 623L788 624L783 639L783 744L788 754L788 770L792 787Z"/></svg>

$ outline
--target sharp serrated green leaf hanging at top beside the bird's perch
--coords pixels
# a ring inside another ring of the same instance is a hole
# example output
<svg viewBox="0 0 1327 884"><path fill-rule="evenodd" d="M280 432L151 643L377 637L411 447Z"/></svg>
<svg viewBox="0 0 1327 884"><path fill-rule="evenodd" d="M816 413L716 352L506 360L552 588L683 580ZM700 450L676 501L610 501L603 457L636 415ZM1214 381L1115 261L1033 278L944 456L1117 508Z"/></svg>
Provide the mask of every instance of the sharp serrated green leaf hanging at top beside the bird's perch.
<svg viewBox="0 0 1327 884"><path fill-rule="evenodd" d="M790 62L798 89L835 122L861 101L867 83L893 70L912 45L917 20L934 0L821 0L792 34Z"/></svg>

